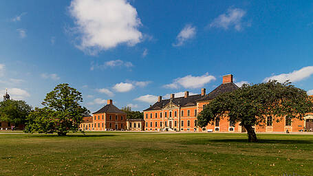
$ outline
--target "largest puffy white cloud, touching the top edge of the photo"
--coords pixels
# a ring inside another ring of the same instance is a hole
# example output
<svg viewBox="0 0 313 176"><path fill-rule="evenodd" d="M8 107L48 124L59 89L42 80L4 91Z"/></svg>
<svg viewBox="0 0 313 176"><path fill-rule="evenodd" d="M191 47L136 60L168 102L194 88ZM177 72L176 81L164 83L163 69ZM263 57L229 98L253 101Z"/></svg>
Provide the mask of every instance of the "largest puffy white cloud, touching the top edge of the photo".
<svg viewBox="0 0 313 176"><path fill-rule="evenodd" d="M69 12L75 19L75 32L80 34L78 48L89 54L142 41L138 30L142 23L127 0L73 0Z"/></svg>

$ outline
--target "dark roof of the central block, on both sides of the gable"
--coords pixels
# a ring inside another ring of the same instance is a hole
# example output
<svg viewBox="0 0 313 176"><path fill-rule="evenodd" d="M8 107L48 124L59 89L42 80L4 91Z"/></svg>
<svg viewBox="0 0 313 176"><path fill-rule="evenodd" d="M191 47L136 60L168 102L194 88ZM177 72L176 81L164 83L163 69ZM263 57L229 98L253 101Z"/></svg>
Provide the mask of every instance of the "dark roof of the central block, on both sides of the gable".
<svg viewBox="0 0 313 176"><path fill-rule="evenodd" d="M188 96L187 98L184 98L184 96L182 96L182 97L173 98L172 100L171 99L161 100L160 102L155 102L155 104L153 104L148 109L145 109L144 111L162 109L163 107L166 106L166 104L169 104L170 101L172 101L174 104L177 104L181 107L195 106L197 105L197 100L203 97L204 96L201 96L201 94L197 94L193 96Z"/></svg>

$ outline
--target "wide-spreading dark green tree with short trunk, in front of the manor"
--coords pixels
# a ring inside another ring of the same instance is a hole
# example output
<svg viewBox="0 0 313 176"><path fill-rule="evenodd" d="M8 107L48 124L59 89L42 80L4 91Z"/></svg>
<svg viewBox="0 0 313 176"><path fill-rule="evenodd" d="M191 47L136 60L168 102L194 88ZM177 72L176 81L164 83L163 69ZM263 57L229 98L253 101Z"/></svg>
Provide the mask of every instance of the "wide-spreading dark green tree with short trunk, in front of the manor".
<svg viewBox="0 0 313 176"><path fill-rule="evenodd" d="M228 121L244 126L248 142L257 142L253 126L265 125L268 116L276 122L286 116L303 120L305 114L312 111L312 98L307 96L306 91L290 82L271 80L257 85L243 85L236 91L217 96L199 113L197 124L206 126L228 118Z"/></svg>

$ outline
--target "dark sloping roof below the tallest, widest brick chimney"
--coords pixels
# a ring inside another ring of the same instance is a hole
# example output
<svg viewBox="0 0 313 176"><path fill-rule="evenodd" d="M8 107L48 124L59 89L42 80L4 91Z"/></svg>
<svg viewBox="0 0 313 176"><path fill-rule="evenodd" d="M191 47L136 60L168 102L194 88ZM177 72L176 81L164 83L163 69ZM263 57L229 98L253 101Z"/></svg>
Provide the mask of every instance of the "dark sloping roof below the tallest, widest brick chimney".
<svg viewBox="0 0 313 176"><path fill-rule="evenodd" d="M219 94L228 93L237 89L239 89L239 87L234 83L224 83L222 85L219 85L219 87L216 87L213 91L210 92L210 94L207 94L203 98L200 98L198 101L213 100Z"/></svg>

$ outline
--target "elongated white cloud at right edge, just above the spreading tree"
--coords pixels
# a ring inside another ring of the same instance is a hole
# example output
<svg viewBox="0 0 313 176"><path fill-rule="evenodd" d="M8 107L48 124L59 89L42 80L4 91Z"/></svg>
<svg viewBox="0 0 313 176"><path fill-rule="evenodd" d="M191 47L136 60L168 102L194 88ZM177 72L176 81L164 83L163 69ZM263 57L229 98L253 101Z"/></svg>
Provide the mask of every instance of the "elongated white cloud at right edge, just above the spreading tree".
<svg viewBox="0 0 313 176"><path fill-rule="evenodd" d="M295 83L310 77L312 74L313 66L307 66L299 70L294 70L294 72L290 72L288 74L279 74L275 76L270 76L268 78L265 78L263 81L268 82L268 80L277 80L279 83L284 83L286 80L290 80L292 83Z"/></svg>

